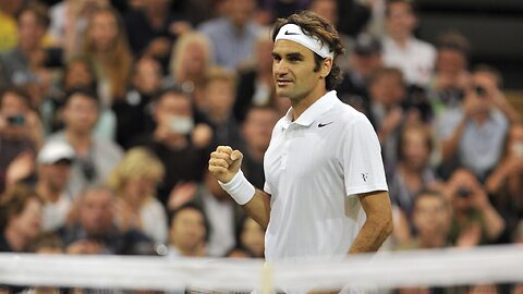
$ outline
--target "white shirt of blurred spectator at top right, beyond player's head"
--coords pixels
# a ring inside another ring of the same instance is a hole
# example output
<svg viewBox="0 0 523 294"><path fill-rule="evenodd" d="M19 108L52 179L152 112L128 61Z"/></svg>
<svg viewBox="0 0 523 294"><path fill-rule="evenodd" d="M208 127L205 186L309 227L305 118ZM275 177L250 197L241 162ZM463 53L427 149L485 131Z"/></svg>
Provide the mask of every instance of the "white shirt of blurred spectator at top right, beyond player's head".
<svg viewBox="0 0 523 294"><path fill-rule="evenodd" d="M400 47L390 37L384 39L384 64L403 72L408 84L425 87L430 81L436 62L433 45L411 38Z"/></svg>

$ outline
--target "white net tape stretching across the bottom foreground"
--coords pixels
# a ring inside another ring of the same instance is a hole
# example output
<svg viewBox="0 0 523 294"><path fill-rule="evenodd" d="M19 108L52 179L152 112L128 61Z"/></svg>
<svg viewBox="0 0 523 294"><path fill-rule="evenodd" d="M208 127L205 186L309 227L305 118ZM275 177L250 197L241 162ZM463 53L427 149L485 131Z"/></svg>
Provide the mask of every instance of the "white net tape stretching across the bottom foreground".
<svg viewBox="0 0 523 294"><path fill-rule="evenodd" d="M265 282L263 282L265 281ZM270 282L269 282L270 281ZM523 282L523 246L351 256L341 262L0 255L0 284L180 290L391 289Z"/></svg>

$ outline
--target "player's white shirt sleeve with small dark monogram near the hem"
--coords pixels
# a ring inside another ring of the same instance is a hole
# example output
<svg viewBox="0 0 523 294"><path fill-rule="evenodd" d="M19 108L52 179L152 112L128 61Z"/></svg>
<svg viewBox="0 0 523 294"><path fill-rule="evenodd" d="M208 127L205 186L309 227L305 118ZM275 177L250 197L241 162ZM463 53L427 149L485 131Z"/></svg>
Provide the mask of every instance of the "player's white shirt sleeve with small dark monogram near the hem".
<svg viewBox="0 0 523 294"><path fill-rule="evenodd" d="M388 191L381 147L370 122L365 118L345 130L342 164L348 196Z"/></svg>

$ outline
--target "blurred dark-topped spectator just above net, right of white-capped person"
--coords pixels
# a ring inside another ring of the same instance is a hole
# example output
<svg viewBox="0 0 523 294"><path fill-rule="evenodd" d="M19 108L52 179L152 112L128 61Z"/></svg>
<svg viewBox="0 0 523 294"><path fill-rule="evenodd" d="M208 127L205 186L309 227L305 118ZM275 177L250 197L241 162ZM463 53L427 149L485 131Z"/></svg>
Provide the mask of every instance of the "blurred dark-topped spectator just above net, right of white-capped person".
<svg viewBox="0 0 523 294"><path fill-rule="evenodd" d="M104 186L86 188L77 201L77 216L59 230L68 254L136 254L154 247L142 232L115 225L115 196Z"/></svg>

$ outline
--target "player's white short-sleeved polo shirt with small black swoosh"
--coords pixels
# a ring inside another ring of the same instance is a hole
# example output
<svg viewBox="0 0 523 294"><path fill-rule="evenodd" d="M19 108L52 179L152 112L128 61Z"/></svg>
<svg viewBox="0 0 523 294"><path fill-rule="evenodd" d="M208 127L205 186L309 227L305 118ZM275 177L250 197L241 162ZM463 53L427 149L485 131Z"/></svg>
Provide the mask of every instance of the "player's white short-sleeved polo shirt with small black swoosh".
<svg viewBox="0 0 523 294"><path fill-rule="evenodd" d="M292 109L280 119L264 168L267 260L345 257L365 221L354 196L388 189L373 126L333 90L295 122Z"/></svg>

